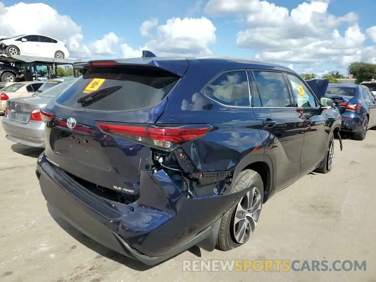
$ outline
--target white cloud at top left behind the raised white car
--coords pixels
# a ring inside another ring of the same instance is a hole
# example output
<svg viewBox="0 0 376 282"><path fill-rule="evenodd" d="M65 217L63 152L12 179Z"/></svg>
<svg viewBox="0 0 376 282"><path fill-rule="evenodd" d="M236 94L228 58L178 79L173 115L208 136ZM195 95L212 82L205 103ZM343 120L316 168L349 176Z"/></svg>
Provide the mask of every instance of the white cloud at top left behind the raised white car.
<svg viewBox="0 0 376 282"><path fill-rule="evenodd" d="M31 24L15 19L28 19L32 15ZM0 2L0 33L5 36L38 33L52 36L67 43L70 56L77 58L96 58L103 55L114 55L112 48L119 43L113 32L102 39L83 43L81 27L69 16L60 15L58 11L44 3L18 3L5 7Z"/></svg>

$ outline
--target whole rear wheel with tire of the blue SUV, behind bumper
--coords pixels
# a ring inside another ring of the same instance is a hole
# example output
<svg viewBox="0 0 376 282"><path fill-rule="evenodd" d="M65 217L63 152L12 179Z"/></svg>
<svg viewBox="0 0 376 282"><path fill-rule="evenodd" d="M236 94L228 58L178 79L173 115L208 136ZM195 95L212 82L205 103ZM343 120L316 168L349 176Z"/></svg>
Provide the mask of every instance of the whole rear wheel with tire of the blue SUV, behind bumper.
<svg viewBox="0 0 376 282"><path fill-rule="evenodd" d="M264 200L264 183L253 170L242 171L230 193L252 188L221 218L217 249L228 251L246 243L255 232Z"/></svg>

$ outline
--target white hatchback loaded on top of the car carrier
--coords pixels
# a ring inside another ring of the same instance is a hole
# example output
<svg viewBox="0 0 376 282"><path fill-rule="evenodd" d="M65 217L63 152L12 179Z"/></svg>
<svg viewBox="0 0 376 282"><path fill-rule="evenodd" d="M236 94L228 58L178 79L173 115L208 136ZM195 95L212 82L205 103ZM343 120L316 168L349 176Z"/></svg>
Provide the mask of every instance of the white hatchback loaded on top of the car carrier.
<svg viewBox="0 0 376 282"><path fill-rule="evenodd" d="M0 55L30 55L68 59L69 51L65 43L58 39L39 34L23 34L2 38L0 41Z"/></svg>

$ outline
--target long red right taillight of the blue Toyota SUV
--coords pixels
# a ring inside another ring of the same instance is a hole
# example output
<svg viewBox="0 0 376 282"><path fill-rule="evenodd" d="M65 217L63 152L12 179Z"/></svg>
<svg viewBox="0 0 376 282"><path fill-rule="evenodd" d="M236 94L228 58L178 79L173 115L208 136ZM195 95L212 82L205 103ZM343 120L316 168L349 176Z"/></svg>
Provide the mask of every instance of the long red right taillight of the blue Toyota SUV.
<svg viewBox="0 0 376 282"><path fill-rule="evenodd" d="M212 128L198 124L119 124L101 123L97 126L105 133L153 148L171 151L187 141L198 139Z"/></svg>

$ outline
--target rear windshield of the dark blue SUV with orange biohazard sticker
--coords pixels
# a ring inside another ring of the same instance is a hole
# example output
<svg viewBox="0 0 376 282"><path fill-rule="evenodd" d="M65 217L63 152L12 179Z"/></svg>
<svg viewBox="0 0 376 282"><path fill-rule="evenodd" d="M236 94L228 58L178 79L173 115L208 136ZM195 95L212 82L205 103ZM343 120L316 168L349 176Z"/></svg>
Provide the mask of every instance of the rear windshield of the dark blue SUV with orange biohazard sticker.
<svg viewBox="0 0 376 282"><path fill-rule="evenodd" d="M56 102L75 108L100 111L127 111L159 104L173 89L180 77L164 70L143 67L109 67L88 70L64 91ZM77 102L91 92L120 86L109 95L92 103Z"/></svg>

